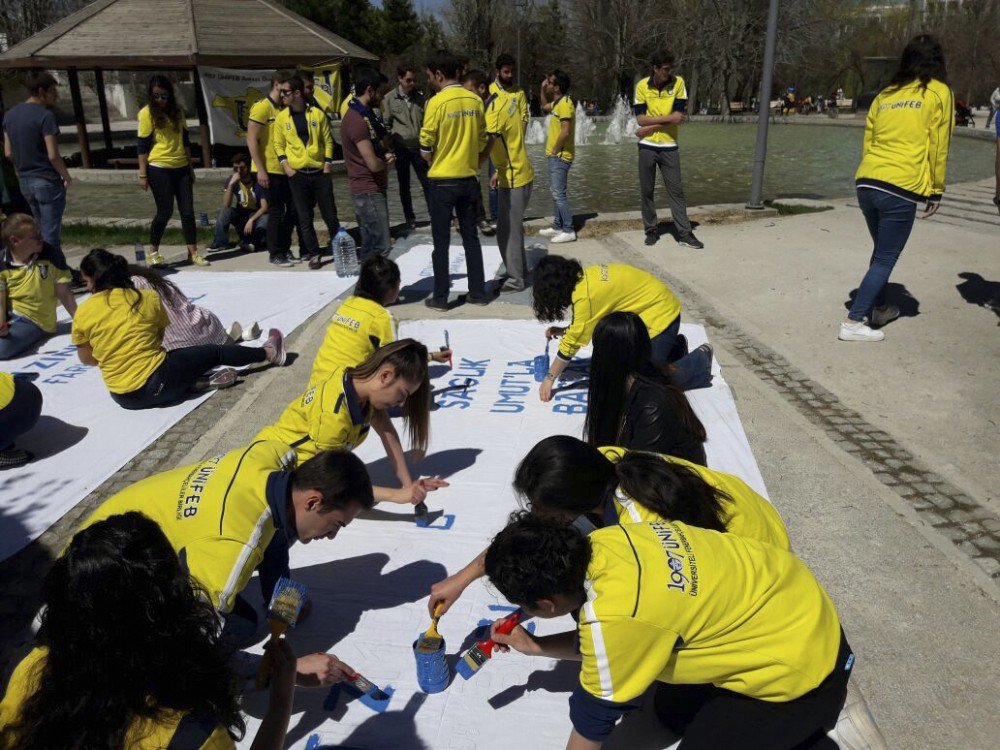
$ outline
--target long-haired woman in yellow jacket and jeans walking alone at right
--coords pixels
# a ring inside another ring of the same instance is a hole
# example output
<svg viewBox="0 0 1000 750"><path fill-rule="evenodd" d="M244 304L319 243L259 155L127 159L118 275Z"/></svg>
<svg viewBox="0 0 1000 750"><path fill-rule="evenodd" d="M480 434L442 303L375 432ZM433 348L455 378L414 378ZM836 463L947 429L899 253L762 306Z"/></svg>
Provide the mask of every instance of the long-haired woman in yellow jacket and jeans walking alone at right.
<svg viewBox="0 0 1000 750"><path fill-rule="evenodd" d="M873 329L899 317L899 308L887 303L886 285L913 229L917 204L924 205L924 219L941 205L954 112L944 50L933 36L920 34L906 45L899 69L868 109L854 177L875 248L840 324L841 341L881 341L885 334Z"/></svg>

